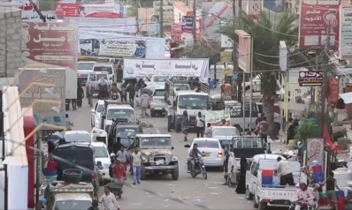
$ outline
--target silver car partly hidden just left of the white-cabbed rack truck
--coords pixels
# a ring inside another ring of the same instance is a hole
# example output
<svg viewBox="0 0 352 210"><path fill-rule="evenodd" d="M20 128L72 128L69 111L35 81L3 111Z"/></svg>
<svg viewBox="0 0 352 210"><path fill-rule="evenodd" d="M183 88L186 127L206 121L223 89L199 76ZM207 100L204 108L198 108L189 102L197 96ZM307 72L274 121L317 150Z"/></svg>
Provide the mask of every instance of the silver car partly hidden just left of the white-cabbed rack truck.
<svg viewBox="0 0 352 210"><path fill-rule="evenodd" d="M161 115L165 116L166 115L166 110L165 110L165 87L164 86L157 86L153 94L151 94L150 97L150 115L151 116L156 116L156 115Z"/></svg>

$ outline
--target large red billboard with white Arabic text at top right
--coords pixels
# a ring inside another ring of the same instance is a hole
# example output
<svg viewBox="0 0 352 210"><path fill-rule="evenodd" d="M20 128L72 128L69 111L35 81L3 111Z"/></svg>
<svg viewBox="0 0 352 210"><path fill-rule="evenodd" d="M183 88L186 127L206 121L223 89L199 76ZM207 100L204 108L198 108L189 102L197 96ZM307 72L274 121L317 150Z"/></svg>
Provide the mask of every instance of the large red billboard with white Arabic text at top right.
<svg viewBox="0 0 352 210"><path fill-rule="evenodd" d="M325 49L328 25L330 49L339 49L340 1L301 1L300 10L299 49Z"/></svg>

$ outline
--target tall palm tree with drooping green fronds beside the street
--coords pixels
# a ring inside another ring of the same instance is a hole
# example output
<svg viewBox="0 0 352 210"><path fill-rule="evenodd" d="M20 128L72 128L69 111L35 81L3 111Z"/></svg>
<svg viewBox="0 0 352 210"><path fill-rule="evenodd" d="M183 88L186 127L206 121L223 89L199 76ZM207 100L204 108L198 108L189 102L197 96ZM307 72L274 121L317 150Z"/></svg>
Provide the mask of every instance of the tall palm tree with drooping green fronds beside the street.
<svg viewBox="0 0 352 210"><path fill-rule="evenodd" d="M304 66L314 65L307 56L295 49L298 41L298 27L295 26L297 18L297 15L286 11L277 23L272 23L272 20L264 11L259 13L256 20L244 11L240 11L238 18L231 19L227 26L221 26L218 31L218 33L224 34L234 41L238 40L238 35L234 33L235 29L242 29L253 37L253 72L255 75L260 75L264 113L271 125L274 121L273 106L276 98L274 90L277 89L277 79L279 79L280 73L278 71L279 41L286 41L287 47L291 51L290 54L293 55L290 56L290 62L288 63L290 67L298 63L305 63ZM238 81L238 83L238 89L241 91L241 81ZM274 126L271 126L270 130L272 134L275 133ZM271 137L275 138L274 135L271 135Z"/></svg>

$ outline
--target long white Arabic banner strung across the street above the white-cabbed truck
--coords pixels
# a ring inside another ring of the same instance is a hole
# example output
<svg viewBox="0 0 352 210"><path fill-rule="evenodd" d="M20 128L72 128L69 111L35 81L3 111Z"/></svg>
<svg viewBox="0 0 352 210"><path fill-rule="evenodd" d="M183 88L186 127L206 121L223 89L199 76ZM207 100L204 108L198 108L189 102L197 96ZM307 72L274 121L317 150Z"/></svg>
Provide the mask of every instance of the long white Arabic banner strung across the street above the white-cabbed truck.
<svg viewBox="0 0 352 210"><path fill-rule="evenodd" d="M198 77L208 81L209 59L124 59L124 78L152 75Z"/></svg>

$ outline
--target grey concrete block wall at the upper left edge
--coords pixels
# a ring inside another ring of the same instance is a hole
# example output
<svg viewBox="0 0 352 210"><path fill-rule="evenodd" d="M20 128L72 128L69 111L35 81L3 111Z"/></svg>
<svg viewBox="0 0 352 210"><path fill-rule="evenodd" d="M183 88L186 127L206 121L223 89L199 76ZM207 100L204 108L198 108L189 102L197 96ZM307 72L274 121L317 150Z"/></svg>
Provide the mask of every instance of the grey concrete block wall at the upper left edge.
<svg viewBox="0 0 352 210"><path fill-rule="evenodd" d="M21 67L21 11L0 7L0 77L13 77Z"/></svg>

